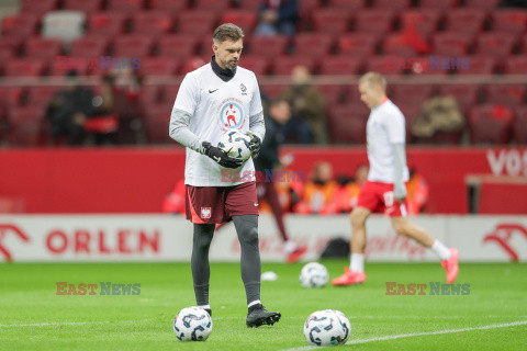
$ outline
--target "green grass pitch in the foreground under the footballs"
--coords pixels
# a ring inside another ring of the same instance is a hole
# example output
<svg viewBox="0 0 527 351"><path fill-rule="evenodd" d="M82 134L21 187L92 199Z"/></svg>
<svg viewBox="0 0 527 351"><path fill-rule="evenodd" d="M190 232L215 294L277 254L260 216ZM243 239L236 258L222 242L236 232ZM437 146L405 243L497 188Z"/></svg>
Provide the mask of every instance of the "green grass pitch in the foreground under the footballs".
<svg viewBox="0 0 527 351"><path fill-rule="evenodd" d="M323 263L335 278L347 261ZM189 263L0 264L0 350L310 350L303 322L326 308L351 322L339 350L527 348L525 263L461 264L457 283L470 284L470 294L455 296L429 295L429 287L423 296L386 295L386 282L444 283L439 263L369 263L365 284L318 290L300 286L301 268L262 264L279 276L262 282L262 302L282 319L248 329L239 264L212 263L212 335L205 342L180 342L171 327L181 308L194 305ZM101 296L98 287L93 296L63 296L57 282L139 283L141 294Z"/></svg>

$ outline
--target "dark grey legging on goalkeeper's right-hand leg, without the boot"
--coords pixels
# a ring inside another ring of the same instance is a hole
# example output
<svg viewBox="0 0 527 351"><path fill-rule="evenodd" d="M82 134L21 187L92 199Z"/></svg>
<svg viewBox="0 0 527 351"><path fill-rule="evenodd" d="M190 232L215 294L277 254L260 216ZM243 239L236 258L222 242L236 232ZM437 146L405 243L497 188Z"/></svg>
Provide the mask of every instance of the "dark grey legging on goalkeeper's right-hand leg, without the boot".
<svg viewBox="0 0 527 351"><path fill-rule="evenodd" d="M242 247L242 280L245 285L247 304L260 299L260 251L258 249L258 216L234 216L234 226Z"/></svg>

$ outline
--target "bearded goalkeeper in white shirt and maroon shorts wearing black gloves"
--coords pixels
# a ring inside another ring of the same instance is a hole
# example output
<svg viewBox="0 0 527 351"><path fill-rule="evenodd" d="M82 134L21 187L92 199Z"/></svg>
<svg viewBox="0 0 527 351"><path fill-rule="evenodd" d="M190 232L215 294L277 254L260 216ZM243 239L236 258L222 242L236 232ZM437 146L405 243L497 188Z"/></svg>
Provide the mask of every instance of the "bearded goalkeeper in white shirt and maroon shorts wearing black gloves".
<svg viewBox="0 0 527 351"><path fill-rule="evenodd" d="M253 159L242 165L216 147L227 131L247 133L253 158L266 133L258 81L253 71L238 67L244 45L242 30L226 23L213 34L211 63L187 73L170 116L170 136L187 147L184 165L187 218L193 223L192 279L195 299L212 315L209 305L209 248L215 225L233 219L242 248L242 279L247 295L247 327L272 325L280 313L266 310L260 302L258 200ZM237 169L240 181L222 179L225 168ZM250 177L249 177L250 178Z"/></svg>

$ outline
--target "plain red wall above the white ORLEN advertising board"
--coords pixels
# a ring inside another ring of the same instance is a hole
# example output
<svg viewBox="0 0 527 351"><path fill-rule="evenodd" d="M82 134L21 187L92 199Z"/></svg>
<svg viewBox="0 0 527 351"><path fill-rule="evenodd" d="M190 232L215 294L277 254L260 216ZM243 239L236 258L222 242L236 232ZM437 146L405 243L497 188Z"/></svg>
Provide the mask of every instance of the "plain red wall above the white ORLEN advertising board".
<svg viewBox="0 0 527 351"><path fill-rule="evenodd" d="M328 161L336 176L354 174L367 162L363 147L287 147L291 170L310 173ZM527 148L407 149L429 184L427 213L469 213L467 178L527 177ZM0 150L0 197L22 203L29 214L159 213L164 197L183 177L184 150L170 148L82 148ZM482 193L486 214L526 214L527 186L498 184ZM480 212L481 213L481 212Z"/></svg>

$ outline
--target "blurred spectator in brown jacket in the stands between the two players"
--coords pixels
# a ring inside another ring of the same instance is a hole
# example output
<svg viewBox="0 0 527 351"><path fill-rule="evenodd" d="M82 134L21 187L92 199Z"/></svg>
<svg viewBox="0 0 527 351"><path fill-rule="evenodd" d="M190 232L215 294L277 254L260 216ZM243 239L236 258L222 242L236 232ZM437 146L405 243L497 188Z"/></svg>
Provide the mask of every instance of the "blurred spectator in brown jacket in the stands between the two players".
<svg viewBox="0 0 527 351"><path fill-rule="evenodd" d="M284 127L285 138L295 136L301 144L327 144L324 95L312 86L310 70L305 66L294 67L291 80L292 86L282 95L293 112Z"/></svg>

